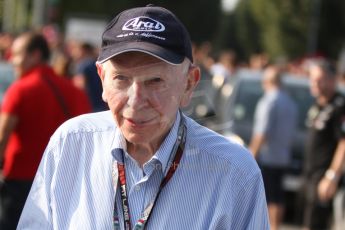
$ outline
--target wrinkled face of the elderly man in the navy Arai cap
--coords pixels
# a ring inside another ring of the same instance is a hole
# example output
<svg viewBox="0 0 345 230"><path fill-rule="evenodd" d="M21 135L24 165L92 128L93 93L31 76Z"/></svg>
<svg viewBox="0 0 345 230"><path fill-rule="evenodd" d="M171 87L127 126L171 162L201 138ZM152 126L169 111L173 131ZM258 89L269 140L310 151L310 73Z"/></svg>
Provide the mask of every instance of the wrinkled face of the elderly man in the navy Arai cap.
<svg viewBox="0 0 345 230"><path fill-rule="evenodd" d="M99 73L103 99L129 144L159 145L194 88L187 62L170 65L139 52L116 56Z"/></svg>

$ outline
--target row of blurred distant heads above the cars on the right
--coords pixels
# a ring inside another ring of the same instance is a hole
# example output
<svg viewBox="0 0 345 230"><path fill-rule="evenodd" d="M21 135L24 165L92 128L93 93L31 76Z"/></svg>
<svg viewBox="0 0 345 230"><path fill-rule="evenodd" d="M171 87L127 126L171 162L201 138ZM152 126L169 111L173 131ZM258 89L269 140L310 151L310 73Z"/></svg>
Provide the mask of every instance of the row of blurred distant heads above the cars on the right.
<svg viewBox="0 0 345 230"><path fill-rule="evenodd" d="M263 70L267 65L278 66L283 72L290 73L296 77L308 77L308 67L310 62L316 59L328 59L321 54L306 55L293 60L278 58L272 60L267 53L258 52L249 56L248 60L239 60L233 50L225 49L215 51L210 42L202 42L194 45L194 58L204 71L211 75L222 74L225 77L235 76L236 70L241 68L251 70ZM330 60L337 69L339 83L345 81L345 52L339 52L337 60Z"/></svg>

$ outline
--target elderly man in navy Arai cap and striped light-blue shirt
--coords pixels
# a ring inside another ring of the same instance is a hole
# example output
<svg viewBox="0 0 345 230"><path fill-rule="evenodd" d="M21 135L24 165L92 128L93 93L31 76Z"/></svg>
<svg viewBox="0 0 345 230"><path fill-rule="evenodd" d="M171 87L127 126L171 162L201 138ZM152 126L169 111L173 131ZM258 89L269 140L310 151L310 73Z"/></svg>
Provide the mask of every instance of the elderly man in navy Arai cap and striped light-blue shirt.
<svg viewBox="0 0 345 230"><path fill-rule="evenodd" d="M179 110L200 78L192 61L170 11L116 16L97 61L110 111L56 131L18 229L269 229L250 153Z"/></svg>

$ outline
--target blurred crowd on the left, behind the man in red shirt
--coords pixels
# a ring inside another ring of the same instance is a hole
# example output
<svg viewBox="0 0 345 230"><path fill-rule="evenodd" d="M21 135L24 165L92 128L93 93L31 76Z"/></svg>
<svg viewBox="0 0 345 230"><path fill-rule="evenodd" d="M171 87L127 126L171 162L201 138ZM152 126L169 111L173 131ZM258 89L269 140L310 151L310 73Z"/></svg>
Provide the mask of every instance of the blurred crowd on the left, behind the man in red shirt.
<svg viewBox="0 0 345 230"><path fill-rule="evenodd" d="M69 79L75 86L84 90L89 96L93 111L107 109L101 99L102 85L99 81L95 62L98 56L94 44L78 40L64 40L63 33L54 25L44 26L37 31L48 42L51 56L49 64L57 75ZM11 45L18 35L0 34L0 60L9 62Z"/></svg>

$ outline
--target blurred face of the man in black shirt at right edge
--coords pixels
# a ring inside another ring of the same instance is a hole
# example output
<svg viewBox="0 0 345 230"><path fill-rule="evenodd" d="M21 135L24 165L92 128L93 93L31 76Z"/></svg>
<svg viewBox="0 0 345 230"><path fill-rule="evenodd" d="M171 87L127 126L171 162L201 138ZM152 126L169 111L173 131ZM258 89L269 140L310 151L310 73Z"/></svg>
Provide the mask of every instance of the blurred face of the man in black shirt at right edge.
<svg viewBox="0 0 345 230"><path fill-rule="evenodd" d="M328 97L335 90L335 80L327 76L319 66L312 66L309 71L310 92L318 97Z"/></svg>

